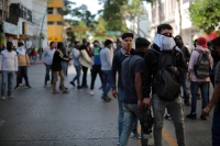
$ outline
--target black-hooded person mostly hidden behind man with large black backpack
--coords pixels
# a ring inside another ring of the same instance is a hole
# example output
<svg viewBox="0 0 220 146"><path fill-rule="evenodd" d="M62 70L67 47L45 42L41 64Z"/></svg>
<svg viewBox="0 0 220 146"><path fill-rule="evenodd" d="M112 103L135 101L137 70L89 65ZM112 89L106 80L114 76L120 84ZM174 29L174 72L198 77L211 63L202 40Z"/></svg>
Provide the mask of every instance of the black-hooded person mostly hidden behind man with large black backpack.
<svg viewBox="0 0 220 146"><path fill-rule="evenodd" d="M178 48L182 49L182 52L184 54L184 57L185 57L185 60L186 60L186 63L188 65L189 58L190 58L190 54L189 54L188 48L184 45L182 36L177 35L174 40L175 40L176 45L178 46ZM186 81L187 81L187 72L183 77L183 83L182 83L182 86L183 86L183 91L184 91L184 102L185 102L186 105L189 106L190 102L189 102L189 96L188 96L188 91L187 91Z"/></svg>

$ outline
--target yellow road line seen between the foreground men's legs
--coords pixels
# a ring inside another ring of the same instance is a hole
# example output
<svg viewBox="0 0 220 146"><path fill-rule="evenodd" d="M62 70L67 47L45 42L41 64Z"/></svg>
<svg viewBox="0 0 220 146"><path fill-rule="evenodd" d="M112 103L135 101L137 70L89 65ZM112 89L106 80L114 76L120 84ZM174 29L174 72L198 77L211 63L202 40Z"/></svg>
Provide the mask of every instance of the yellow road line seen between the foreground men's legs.
<svg viewBox="0 0 220 146"><path fill-rule="evenodd" d="M138 127L138 132L141 134L141 126ZM176 138L173 137L170 135L170 133L165 127L163 127L163 130L162 130L162 136L166 141L168 146L178 146ZM139 145L141 145L141 141L140 139L139 139Z"/></svg>

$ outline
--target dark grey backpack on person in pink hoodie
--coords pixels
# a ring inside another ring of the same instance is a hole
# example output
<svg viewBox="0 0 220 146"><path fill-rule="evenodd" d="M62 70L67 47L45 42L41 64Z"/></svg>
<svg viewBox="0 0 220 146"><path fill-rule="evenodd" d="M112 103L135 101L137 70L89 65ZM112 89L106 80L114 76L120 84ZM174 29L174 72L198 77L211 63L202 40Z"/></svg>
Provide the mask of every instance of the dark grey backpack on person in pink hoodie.
<svg viewBox="0 0 220 146"><path fill-rule="evenodd" d="M197 78L206 79L210 72L209 52L202 53L199 49L195 49L199 53L196 65L194 65L194 72Z"/></svg>

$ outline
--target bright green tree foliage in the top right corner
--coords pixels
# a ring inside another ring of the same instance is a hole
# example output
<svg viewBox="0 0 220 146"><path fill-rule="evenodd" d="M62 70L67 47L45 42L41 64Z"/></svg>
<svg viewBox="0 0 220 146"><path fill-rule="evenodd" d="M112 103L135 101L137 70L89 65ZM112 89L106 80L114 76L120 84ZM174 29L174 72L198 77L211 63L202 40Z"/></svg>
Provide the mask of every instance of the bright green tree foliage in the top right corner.
<svg viewBox="0 0 220 146"><path fill-rule="evenodd" d="M220 1L219 0L195 0L189 8L191 22L206 33L219 30L220 26Z"/></svg>

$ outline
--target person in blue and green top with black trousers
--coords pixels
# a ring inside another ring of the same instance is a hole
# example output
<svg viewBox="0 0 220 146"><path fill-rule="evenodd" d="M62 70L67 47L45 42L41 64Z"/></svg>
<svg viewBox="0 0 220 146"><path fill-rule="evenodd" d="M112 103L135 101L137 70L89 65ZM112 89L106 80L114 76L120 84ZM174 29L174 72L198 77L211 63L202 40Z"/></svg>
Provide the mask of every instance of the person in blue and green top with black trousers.
<svg viewBox="0 0 220 146"><path fill-rule="evenodd" d="M97 74L99 74L99 77L101 79L102 85L102 72L101 72L101 60L100 60L100 50L101 46L99 41L94 42L94 48L92 48L92 55L94 55L94 65L91 69L91 85L90 85L90 94L94 94L94 85L96 81Z"/></svg>

